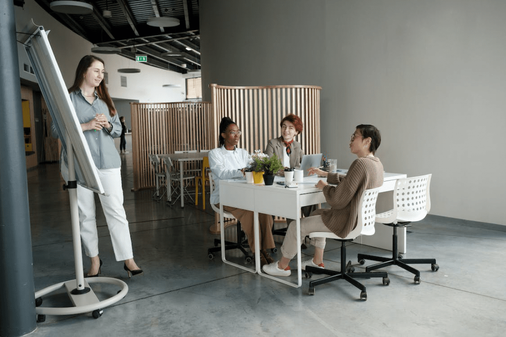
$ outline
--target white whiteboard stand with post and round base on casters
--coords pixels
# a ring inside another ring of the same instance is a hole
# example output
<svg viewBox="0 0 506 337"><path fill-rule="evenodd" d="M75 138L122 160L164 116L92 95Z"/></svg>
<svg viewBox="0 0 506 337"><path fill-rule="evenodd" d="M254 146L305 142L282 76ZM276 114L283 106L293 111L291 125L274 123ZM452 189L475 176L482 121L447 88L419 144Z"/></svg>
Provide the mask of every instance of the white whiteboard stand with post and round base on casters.
<svg viewBox="0 0 506 337"><path fill-rule="evenodd" d="M74 245L74 264L75 279L51 285L43 290L35 293L35 313L37 314L37 322L46 320L46 315L75 315L86 312L92 312L94 318L102 316L102 309L110 306L128 293L128 285L125 282L111 277L92 277L85 279L82 271L82 253L81 253L81 237L79 232L79 210L77 207L77 181L75 179L74 169L74 150L70 137L67 135L67 160L69 181L63 185L63 189L68 189L70 199L70 217L72 222L72 240ZM89 283L108 283L121 287L116 295L104 301L99 301ZM61 287L65 287L72 301L73 307L49 308L40 307L42 297L52 293Z"/></svg>

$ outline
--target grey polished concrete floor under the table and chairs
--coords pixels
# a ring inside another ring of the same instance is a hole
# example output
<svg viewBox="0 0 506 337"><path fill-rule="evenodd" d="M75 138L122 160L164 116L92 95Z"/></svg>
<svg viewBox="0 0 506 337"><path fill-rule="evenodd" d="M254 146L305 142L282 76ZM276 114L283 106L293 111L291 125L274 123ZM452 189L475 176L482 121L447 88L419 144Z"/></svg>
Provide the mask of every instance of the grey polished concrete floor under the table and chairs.
<svg viewBox="0 0 506 337"><path fill-rule="evenodd" d="M408 228L406 257L436 258L440 266L433 272L430 265L418 265L420 284L413 282L412 274L392 266L385 268L389 286L381 278L361 279L367 301L359 300L360 291L343 280L317 286L315 296L309 296L309 280L293 288L225 265L220 254L209 260L207 248L218 237L208 230L213 210L208 205L205 211L193 205L171 208L153 201L152 190L132 192L131 153L122 160L124 207L135 258L144 274L129 279L123 263L115 261L98 203L101 276L125 281L128 294L105 308L99 319L91 313L47 315L30 336L504 335L506 232L500 226L429 215ZM75 278L69 201L62 184L58 164L42 164L28 172L37 291ZM233 230L228 228L227 235L233 236ZM275 239L279 247L282 237ZM350 244L348 260L356 271L364 268L357 263L359 252L390 255ZM229 254L243 261L239 254ZM280 253L272 255L279 259ZM339 269L339 243L328 242L324 258L326 268ZM83 255L83 261L86 272L89 259ZM101 299L118 290L100 284L93 289ZM48 295L43 303L70 305L63 290Z"/></svg>

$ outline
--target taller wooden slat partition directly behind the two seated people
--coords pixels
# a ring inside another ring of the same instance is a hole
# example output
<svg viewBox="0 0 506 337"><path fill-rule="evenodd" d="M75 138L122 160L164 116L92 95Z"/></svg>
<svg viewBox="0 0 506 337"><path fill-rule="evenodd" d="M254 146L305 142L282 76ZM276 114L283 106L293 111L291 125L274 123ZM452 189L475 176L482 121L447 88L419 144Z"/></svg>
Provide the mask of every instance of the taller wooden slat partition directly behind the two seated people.
<svg viewBox="0 0 506 337"><path fill-rule="evenodd" d="M228 116L242 131L239 147L264 151L279 137L279 123L289 113L299 116L303 132L296 137L306 154L320 152L320 90L311 85L223 86L210 84L213 109L213 148L218 147L219 124Z"/></svg>

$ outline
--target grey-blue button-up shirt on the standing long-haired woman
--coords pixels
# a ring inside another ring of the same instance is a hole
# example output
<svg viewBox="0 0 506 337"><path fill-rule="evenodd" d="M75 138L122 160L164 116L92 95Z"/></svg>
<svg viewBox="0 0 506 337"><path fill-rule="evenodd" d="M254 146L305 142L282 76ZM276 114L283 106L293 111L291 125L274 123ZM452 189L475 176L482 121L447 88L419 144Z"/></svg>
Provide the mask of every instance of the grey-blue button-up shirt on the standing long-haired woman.
<svg viewBox="0 0 506 337"><path fill-rule="evenodd" d="M121 166L121 158L118 151L114 146L113 137L121 135L121 123L119 122L118 114L114 116L109 115L109 108L104 101L98 98L95 92L95 101L90 104L82 95L81 90L70 92L70 100L72 101L77 120L80 124L88 123L96 114L104 114L112 125L112 130L109 132L106 128L100 131L87 130L83 134L88 142L88 147L92 154L95 166L98 169L119 168ZM53 127L53 135L58 137L56 128ZM65 164L67 164L67 156L63 154Z"/></svg>

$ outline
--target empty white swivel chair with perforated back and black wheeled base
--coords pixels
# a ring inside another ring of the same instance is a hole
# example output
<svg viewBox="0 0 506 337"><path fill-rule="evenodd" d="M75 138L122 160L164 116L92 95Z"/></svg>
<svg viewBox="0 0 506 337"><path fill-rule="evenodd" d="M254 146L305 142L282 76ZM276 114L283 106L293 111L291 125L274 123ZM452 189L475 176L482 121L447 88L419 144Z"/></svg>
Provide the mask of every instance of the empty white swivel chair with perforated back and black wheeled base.
<svg viewBox="0 0 506 337"><path fill-rule="evenodd" d="M394 188L394 208L376 215L376 222L391 226L394 229L392 236L392 258L358 254L358 262L360 264L364 264L364 260L380 262L366 267L366 271L396 265L413 273L415 275L414 282L420 283L420 272L409 266L409 263L427 263L431 264L431 269L433 271L439 269L436 259L402 259L397 248L397 227L411 226L409 224L410 222L424 219L431 209L431 198L429 194L431 176L432 174L428 174L397 179Z"/></svg>

